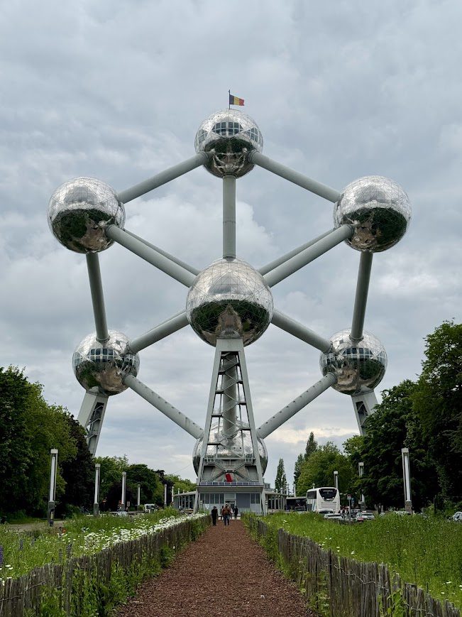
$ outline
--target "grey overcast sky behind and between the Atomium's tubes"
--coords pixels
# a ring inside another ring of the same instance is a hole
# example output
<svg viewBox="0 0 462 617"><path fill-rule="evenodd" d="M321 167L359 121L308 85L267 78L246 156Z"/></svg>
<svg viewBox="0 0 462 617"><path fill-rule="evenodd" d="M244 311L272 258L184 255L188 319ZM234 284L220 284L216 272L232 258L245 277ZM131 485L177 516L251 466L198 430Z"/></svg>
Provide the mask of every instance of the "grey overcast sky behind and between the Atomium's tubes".
<svg viewBox="0 0 462 617"><path fill-rule="evenodd" d="M373 260L365 329L388 355L380 391L420 371L424 337L461 320L459 0L233 3L18 0L0 9L0 364L24 366L77 415L75 346L94 331L87 266L48 229L55 188L80 175L123 190L194 154L199 124L245 99L263 152L341 191L399 182L412 222ZM333 226L333 204L255 168L237 181L237 252L253 266ZM221 181L198 168L126 205L126 229L197 268L221 256ZM324 337L351 325L360 253L341 244L273 288L275 307ZM110 328L137 337L187 290L120 246L100 253ZM141 351L138 378L204 424L214 349L189 327ZM257 426L319 380L319 352L270 326L246 348ZM329 390L266 439L292 481L309 432L358 433ZM194 439L126 391L98 454L194 479Z"/></svg>

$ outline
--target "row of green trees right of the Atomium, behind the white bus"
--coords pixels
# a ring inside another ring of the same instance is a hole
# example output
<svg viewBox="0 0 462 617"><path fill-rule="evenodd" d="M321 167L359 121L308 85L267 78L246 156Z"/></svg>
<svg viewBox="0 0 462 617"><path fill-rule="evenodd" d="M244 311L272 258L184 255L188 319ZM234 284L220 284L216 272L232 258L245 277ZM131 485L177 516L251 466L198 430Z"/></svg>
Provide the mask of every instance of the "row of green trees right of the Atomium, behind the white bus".
<svg viewBox="0 0 462 617"><path fill-rule="evenodd" d="M461 509L462 324L446 321L425 342L422 373L383 392L364 436L347 439L342 452L332 442L319 447L310 433L295 463L297 495L313 484L333 486L338 471L340 492L355 496L356 503L363 493L370 508L402 508L401 449L407 447L414 510ZM283 469L278 467L279 476Z"/></svg>

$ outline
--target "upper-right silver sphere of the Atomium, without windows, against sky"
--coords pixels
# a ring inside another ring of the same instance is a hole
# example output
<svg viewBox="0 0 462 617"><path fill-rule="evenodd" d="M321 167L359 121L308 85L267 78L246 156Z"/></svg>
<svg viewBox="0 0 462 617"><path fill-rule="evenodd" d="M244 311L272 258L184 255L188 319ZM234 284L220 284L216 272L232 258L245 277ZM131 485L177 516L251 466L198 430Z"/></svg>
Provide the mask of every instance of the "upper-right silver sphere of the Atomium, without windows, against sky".
<svg viewBox="0 0 462 617"><path fill-rule="evenodd" d="M397 244L411 218L411 204L397 182L381 175L366 175L351 182L336 203L334 224L354 224L346 243L357 251L378 253Z"/></svg>

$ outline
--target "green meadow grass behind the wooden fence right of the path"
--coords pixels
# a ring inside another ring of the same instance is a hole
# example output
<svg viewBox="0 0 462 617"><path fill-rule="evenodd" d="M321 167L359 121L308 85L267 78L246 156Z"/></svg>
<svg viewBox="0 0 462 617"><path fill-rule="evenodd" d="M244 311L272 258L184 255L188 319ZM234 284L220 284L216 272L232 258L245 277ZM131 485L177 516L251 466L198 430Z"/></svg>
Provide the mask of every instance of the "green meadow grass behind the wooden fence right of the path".
<svg viewBox="0 0 462 617"><path fill-rule="evenodd" d="M387 564L403 581L462 608L461 523L387 515L342 525L310 513L273 514L264 520L273 528L310 537L337 555Z"/></svg>

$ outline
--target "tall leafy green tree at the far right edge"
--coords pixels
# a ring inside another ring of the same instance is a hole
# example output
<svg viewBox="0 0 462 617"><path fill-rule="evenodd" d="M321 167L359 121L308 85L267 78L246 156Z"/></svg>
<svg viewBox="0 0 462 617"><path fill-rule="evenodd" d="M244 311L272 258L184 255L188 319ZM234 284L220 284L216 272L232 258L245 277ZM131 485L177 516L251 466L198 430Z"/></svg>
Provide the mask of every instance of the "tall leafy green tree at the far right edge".
<svg viewBox="0 0 462 617"><path fill-rule="evenodd" d="M462 324L444 322L426 338L422 374L412 395L434 460L441 496L462 500Z"/></svg>

